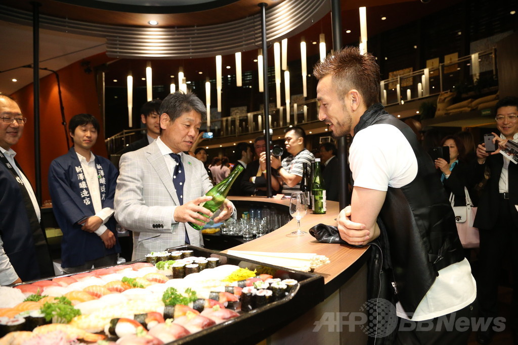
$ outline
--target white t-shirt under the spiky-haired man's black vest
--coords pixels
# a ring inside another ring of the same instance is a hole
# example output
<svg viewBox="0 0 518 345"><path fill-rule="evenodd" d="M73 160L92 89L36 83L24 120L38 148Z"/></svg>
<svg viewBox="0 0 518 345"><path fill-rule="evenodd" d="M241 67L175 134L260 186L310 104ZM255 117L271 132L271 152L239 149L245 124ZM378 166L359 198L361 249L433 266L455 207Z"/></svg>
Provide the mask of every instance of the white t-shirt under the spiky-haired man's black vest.
<svg viewBox="0 0 518 345"><path fill-rule="evenodd" d="M413 181L418 162L410 143L395 126L372 125L355 134L349 153L355 187L386 191L400 188ZM419 279L419 277L415 277ZM460 310L474 301L477 287L469 262L449 265L426 293L412 321L430 320ZM397 316L409 319L400 303Z"/></svg>

